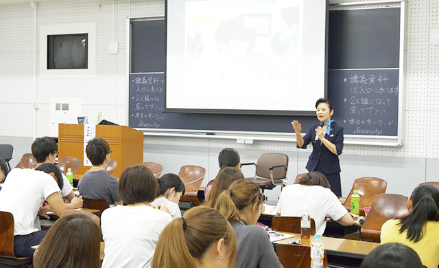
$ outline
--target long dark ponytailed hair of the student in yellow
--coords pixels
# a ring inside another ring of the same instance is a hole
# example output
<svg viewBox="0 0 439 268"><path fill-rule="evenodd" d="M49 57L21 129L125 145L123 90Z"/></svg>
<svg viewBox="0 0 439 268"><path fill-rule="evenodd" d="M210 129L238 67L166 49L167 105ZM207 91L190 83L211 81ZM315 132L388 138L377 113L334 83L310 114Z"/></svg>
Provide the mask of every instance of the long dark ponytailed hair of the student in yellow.
<svg viewBox="0 0 439 268"><path fill-rule="evenodd" d="M399 233L407 230L407 239L414 243L420 241L424 236L424 226L427 221L439 221L438 203L431 197L431 194L438 193L435 186L422 185L414 188L410 198L413 203L413 210L409 215L399 219L401 228Z"/></svg>

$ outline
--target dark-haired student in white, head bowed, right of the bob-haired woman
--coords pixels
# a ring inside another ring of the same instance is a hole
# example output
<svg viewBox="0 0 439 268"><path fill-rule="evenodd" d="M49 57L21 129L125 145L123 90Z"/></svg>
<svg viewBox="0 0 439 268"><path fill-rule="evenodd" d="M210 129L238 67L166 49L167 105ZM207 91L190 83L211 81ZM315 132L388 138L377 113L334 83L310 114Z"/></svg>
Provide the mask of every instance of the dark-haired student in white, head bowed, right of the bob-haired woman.
<svg viewBox="0 0 439 268"><path fill-rule="evenodd" d="M180 218L181 212L178 208L180 197L185 194L185 183L175 174L165 174L158 180L160 194L151 203L157 205L165 204L171 212L172 219Z"/></svg>

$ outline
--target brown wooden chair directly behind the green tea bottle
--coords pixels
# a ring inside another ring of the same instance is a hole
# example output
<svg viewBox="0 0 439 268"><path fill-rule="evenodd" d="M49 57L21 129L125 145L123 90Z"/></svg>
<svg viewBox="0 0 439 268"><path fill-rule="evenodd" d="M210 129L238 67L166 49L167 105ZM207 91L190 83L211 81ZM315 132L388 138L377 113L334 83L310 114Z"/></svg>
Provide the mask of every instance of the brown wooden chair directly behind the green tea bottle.
<svg viewBox="0 0 439 268"><path fill-rule="evenodd" d="M374 177L362 177L355 179L351 192L349 192L344 201L344 208L351 211L351 195L354 190L358 190L359 194L359 214L364 216L364 207L370 207L373 200L378 194L384 194L387 188L387 181Z"/></svg>

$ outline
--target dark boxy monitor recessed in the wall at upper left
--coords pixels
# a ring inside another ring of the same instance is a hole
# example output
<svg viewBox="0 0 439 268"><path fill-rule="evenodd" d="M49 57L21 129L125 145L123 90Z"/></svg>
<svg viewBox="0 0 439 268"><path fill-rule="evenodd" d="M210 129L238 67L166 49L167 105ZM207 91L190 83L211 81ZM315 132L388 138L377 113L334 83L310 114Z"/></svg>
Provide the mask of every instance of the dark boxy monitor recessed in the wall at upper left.
<svg viewBox="0 0 439 268"><path fill-rule="evenodd" d="M87 69L88 34L47 36L47 69Z"/></svg>

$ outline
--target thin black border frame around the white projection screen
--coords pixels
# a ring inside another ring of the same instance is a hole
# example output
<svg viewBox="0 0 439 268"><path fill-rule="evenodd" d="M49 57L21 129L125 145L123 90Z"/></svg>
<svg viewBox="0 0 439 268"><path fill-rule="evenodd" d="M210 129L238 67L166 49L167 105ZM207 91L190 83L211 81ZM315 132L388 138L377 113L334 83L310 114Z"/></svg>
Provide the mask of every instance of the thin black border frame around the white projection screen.
<svg viewBox="0 0 439 268"><path fill-rule="evenodd" d="M165 68L167 69L167 16L168 1L165 0ZM194 0L199 1L199 0ZM328 37L329 37L329 0L324 0L325 18L324 18L324 98L328 96ZM217 113L217 114L237 114L237 115L303 115L316 116L316 111L300 110L244 110L244 109L176 109L167 107L167 71L165 71L165 107L163 113Z"/></svg>

